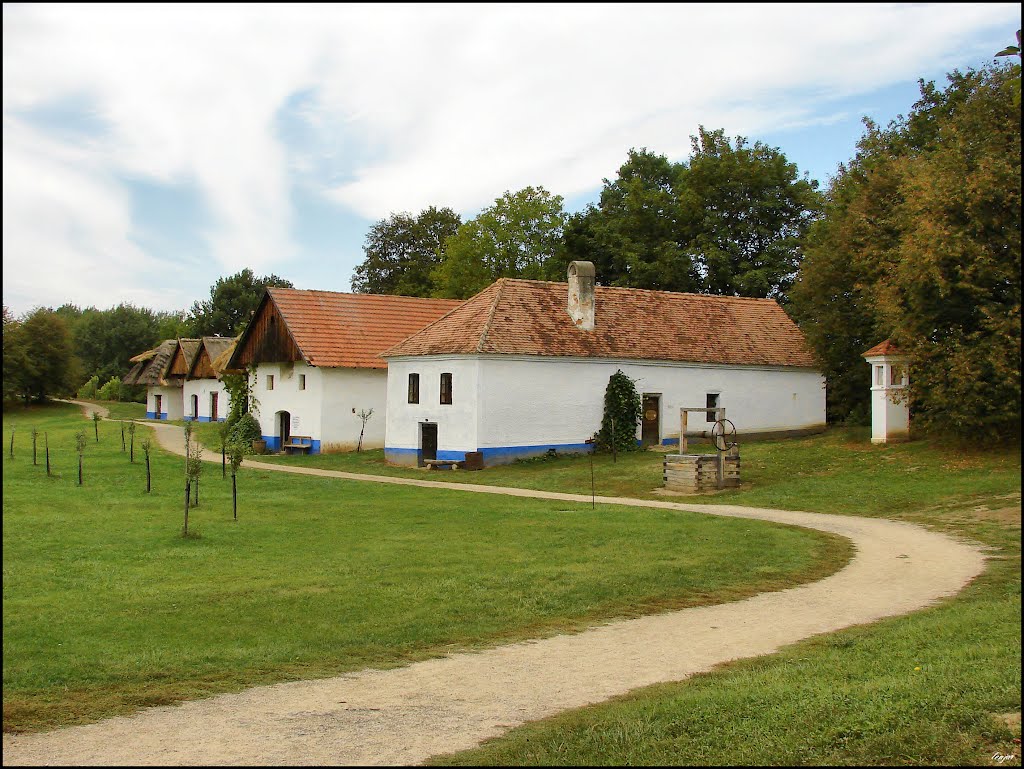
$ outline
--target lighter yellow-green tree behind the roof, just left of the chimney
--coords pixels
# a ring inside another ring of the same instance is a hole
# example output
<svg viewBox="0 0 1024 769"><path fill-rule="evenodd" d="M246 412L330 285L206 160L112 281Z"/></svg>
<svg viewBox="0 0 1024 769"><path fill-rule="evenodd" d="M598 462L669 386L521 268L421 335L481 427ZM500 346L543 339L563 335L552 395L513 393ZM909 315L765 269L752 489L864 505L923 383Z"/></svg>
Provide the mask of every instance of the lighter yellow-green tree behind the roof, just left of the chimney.
<svg viewBox="0 0 1024 769"><path fill-rule="evenodd" d="M447 239L434 294L466 299L499 277L543 280L562 247L562 197L544 187L506 191Z"/></svg>

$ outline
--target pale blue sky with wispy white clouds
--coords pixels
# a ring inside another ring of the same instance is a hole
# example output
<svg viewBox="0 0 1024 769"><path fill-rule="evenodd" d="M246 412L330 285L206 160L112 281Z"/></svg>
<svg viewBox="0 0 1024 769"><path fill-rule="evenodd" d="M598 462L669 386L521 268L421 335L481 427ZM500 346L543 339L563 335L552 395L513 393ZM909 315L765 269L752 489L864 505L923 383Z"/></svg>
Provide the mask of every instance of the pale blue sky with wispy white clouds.
<svg viewBox="0 0 1024 769"><path fill-rule="evenodd" d="M1015 43L1020 3L3 6L3 303L187 309L244 267L349 291L373 224L596 202L697 127L826 185L861 119Z"/></svg>

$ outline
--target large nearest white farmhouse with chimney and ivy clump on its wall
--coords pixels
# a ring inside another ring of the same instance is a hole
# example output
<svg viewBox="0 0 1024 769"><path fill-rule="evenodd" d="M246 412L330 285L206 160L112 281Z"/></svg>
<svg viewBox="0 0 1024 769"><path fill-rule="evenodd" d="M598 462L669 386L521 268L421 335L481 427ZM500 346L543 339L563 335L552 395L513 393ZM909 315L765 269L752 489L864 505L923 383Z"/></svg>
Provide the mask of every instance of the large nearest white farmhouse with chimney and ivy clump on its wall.
<svg viewBox="0 0 1024 769"><path fill-rule="evenodd" d="M384 357L395 464L589 451L620 369L643 443L678 442L681 407L724 407L740 436L825 423L824 378L774 300L596 287L590 262L567 284L502 279Z"/></svg>

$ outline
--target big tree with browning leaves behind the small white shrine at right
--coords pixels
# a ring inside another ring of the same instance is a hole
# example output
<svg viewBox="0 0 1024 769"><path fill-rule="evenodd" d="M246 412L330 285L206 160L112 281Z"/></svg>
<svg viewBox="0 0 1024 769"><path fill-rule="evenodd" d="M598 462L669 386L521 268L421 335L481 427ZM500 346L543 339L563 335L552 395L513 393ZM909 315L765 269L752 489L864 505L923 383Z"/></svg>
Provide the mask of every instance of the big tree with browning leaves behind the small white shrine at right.
<svg viewBox="0 0 1024 769"><path fill-rule="evenodd" d="M860 353L891 338L910 355L916 426L1019 437L1020 111L1007 98L1015 77L1011 65L954 72L941 91L922 83L910 115L886 129L868 123L857 157L840 169L793 292L825 361L833 418L862 410ZM824 299L829 292L840 301Z"/></svg>

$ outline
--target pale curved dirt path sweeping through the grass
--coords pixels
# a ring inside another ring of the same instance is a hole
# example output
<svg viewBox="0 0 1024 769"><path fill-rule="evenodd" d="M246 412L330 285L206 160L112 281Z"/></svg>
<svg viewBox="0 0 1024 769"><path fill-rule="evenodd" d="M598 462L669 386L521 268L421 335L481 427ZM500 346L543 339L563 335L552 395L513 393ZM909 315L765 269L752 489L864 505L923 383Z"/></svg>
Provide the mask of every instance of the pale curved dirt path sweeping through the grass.
<svg viewBox="0 0 1024 769"><path fill-rule="evenodd" d="M180 428L153 426L162 444L183 453L175 445L181 442ZM583 495L285 468L248 460L245 466L590 501ZM954 595L984 568L980 548L898 521L608 497L598 502L805 526L850 539L856 554L845 568L820 582L733 603L614 622L396 670L261 686L88 726L4 735L4 764L415 764L630 689L682 680L809 636L913 611Z"/></svg>

